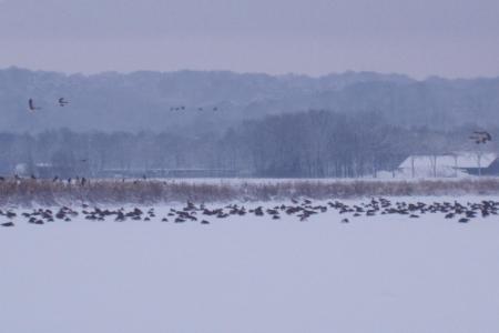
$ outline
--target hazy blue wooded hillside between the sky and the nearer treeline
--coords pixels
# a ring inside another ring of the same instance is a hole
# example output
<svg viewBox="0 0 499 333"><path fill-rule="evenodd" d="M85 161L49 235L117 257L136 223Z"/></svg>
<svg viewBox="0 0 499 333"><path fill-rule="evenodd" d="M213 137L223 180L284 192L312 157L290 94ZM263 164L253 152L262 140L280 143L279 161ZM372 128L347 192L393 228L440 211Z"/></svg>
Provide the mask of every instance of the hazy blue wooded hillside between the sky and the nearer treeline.
<svg viewBox="0 0 499 333"><path fill-rule="evenodd" d="M58 107L60 97L70 105ZM31 113L30 98L42 110ZM446 130L467 123L497 125L499 78L416 81L371 72L310 78L222 71L67 75L19 68L0 70L1 131L69 128L202 132L244 119L310 109L376 111L403 127Z"/></svg>

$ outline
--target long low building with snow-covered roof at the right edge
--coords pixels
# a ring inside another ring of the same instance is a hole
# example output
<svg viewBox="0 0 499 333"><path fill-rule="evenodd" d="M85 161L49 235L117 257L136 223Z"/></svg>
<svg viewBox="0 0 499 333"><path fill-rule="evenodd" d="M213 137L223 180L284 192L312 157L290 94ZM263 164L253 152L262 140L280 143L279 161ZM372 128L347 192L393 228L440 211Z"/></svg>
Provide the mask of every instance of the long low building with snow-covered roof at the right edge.
<svg viewBox="0 0 499 333"><path fill-rule="evenodd" d="M499 175L496 153L457 152L441 155L410 155L398 167L403 176Z"/></svg>

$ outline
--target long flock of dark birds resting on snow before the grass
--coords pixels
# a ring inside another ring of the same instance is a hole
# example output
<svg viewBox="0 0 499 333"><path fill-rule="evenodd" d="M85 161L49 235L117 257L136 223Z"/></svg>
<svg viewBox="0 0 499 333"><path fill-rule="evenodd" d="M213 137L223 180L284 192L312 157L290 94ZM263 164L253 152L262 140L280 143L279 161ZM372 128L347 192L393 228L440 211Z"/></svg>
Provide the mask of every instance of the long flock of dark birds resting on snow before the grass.
<svg viewBox="0 0 499 333"><path fill-rule="evenodd" d="M376 215L400 215L410 219L418 219L425 214L444 214L445 219L455 219L460 223L467 223L475 218L487 218L497 215L499 211L499 202L492 200L482 200L480 202L405 202L390 201L385 198L373 198L368 202L356 204L347 204L338 200L314 203L312 200L292 199L292 204L281 204L264 208L245 208L242 204L227 204L220 208L207 208L205 204L194 204L187 202L183 208L171 208L167 212L160 215L154 208L146 210L140 208L120 208L120 209L101 209L82 204L81 208L73 209L70 206L61 206L58 209L33 209L22 213L13 210L0 210L0 216L7 222L0 223L1 226L14 226L14 221L24 218L28 223L45 224L55 221L71 222L78 216L83 216L86 221L160 221L160 222L197 222L201 224L210 224L214 219L225 219L228 216L267 216L272 220L279 220L282 216L295 216L299 221L308 221L310 216L323 214L328 211L336 211L339 214L337 221L349 223L359 216Z"/></svg>

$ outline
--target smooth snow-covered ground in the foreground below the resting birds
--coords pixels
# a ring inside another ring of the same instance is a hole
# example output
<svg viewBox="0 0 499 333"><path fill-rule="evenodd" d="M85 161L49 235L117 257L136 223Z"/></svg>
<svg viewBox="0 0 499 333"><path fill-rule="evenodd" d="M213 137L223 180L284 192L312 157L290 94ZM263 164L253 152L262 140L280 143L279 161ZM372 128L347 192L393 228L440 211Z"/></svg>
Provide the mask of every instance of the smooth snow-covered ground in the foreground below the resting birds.
<svg viewBox="0 0 499 333"><path fill-rule="evenodd" d="M343 218L2 228L0 332L499 332L499 218Z"/></svg>

